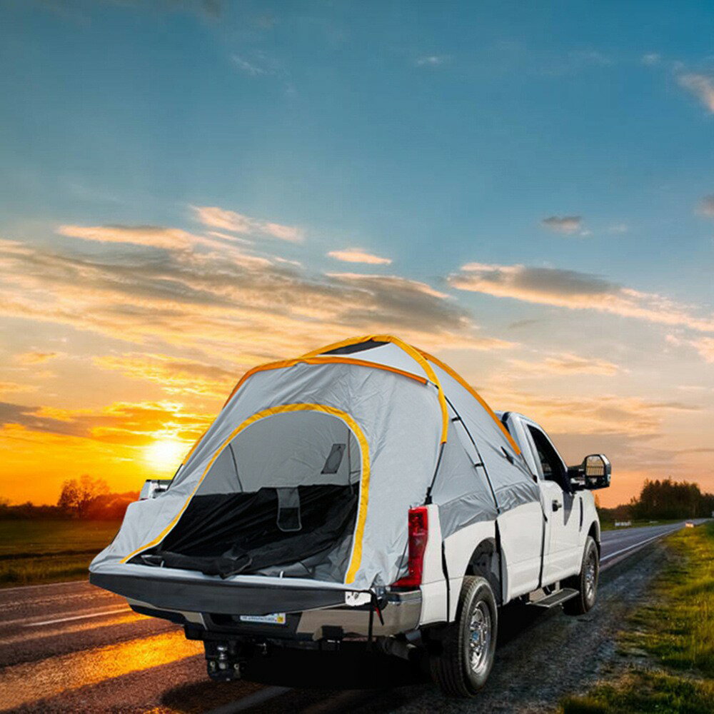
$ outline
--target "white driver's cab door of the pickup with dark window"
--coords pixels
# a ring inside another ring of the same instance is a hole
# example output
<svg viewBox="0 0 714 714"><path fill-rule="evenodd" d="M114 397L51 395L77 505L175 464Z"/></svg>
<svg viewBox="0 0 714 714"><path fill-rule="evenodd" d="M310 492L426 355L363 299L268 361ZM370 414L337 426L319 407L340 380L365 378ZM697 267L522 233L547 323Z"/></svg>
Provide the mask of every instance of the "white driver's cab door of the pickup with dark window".
<svg viewBox="0 0 714 714"><path fill-rule="evenodd" d="M540 477L543 508L548 518L548 543L543 559L543 585L573 575L580 567L580 494L570 489L568 469L538 426L524 420Z"/></svg>

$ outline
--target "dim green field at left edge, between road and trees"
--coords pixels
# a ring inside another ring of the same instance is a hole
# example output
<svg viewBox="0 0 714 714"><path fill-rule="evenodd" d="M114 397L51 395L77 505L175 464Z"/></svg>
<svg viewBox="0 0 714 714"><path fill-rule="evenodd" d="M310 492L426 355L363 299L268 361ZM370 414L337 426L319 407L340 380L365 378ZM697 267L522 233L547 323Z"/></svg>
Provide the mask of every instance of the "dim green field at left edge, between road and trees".
<svg viewBox="0 0 714 714"><path fill-rule="evenodd" d="M0 588L86 578L120 521L0 521Z"/></svg>

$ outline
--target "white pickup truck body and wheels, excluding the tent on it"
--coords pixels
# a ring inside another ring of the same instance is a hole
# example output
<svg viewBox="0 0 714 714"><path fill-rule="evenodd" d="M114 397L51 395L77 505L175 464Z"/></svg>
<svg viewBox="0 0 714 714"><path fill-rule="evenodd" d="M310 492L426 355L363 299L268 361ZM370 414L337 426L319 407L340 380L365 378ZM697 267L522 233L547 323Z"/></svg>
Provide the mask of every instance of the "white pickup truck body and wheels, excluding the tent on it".
<svg viewBox="0 0 714 714"><path fill-rule="evenodd" d="M516 412L496 414L521 447L538 483L540 503L521 506L517 514L506 513L496 521L476 523L443 542L436 527L437 507L426 506L430 528L421 532L418 523L410 523L410 545L423 541L422 580L431 580L431 585L422 585L418 597L406 588L387 588L381 619L373 622L371 633L388 655L413 658L426 653L436 683L445 693L461 697L475 695L491 672L501 605L520 601L539 608L561 606L568 615L583 615L595 605L598 588L600 521L591 491L610 485L610 461L592 454L578 466L565 466L538 423ZM141 498L164 493L169 483L146 481ZM445 570L449 590L459 593L449 603L433 588L434 580L444 580ZM269 656L266 645L271 642L288 649L298 645L297 638L291 643L278 637L276 643L276 635L286 633L276 633L275 626L288 624L288 618L299 617L293 635L322 635L313 640L316 646L336 646L342 633L357 635L355 644L365 643L368 635L364 618L359 617L364 615L359 598L352 607L244 616L238 627L231 621L229 628L228 618L157 612L145 603L129 602L139 613L174 619L184 625L188 638L203 640L208 673L217 680L249 671L242 662L241 667L234 666L241 645L250 656L260 653L261 658ZM438 614L444 608L446 618ZM211 634L207 636L206 630Z"/></svg>

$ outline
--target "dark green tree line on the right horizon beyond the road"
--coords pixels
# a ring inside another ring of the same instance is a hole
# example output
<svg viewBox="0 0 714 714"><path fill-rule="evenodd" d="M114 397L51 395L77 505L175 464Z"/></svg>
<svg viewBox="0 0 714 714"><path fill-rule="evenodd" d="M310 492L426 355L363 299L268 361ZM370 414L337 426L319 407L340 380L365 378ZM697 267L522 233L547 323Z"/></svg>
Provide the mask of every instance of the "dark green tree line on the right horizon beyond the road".
<svg viewBox="0 0 714 714"><path fill-rule="evenodd" d="M647 479L640 495L615 508L599 508L600 518L612 521L660 521L706 518L714 511L714 493L702 493L697 483Z"/></svg>

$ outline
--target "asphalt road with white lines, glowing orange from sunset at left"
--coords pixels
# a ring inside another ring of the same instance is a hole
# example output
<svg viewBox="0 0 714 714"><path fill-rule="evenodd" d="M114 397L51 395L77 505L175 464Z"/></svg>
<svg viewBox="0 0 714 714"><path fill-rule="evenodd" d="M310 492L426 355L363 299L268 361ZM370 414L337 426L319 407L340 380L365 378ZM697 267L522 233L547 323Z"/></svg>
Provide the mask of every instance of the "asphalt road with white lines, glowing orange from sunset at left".
<svg viewBox="0 0 714 714"><path fill-rule="evenodd" d="M603 570L683 525L605 531ZM0 590L0 710L230 714L271 700L274 710L372 710L362 696L213 683L201 643L86 582ZM410 695L391 696L381 693L378 710L403 706Z"/></svg>

